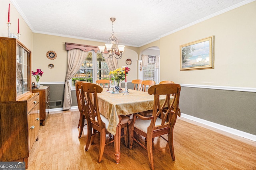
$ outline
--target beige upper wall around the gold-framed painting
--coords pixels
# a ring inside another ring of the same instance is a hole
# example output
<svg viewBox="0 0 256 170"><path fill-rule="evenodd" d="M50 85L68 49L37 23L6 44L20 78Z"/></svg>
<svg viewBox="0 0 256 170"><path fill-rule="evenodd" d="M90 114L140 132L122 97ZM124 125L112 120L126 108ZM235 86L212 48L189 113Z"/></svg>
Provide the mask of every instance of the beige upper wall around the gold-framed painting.
<svg viewBox="0 0 256 170"><path fill-rule="evenodd" d="M256 2L139 48L160 48L160 80L180 84L256 87ZM180 71L180 45L214 35L214 69ZM170 74L166 74L170 72Z"/></svg>

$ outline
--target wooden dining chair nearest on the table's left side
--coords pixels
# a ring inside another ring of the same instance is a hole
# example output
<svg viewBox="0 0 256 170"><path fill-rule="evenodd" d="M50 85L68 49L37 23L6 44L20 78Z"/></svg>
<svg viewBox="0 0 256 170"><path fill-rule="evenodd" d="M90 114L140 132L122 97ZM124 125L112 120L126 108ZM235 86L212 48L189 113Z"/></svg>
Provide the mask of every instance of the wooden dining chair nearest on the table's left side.
<svg viewBox="0 0 256 170"><path fill-rule="evenodd" d="M103 88L99 86L98 84L90 83L90 82L84 82L82 83L82 108L85 110L85 117L88 122L87 124L87 141L86 141L86 147L85 150L87 151L90 145L90 141L92 139L92 135L95 135L97 133L100 133L100 149L98 154L98 163L102 160L102 155L104 152L105 145L112 143L114 140L111 140L110 142L106 143L106 134L109 132L106 130L108 127L108 119L104 117L102 114L100 114L99 106L98 106L98 93L101 93L103 91ZM121 128L126 127L124 129L124 135L121 137L127 138L127 121L129 120L129 117L122 116L121 119ZM92 130L94 129L94 130ZM126 147L128 146L128 141L125 140ZM94 143L94 140L92 140L92 144Z"/></svg>

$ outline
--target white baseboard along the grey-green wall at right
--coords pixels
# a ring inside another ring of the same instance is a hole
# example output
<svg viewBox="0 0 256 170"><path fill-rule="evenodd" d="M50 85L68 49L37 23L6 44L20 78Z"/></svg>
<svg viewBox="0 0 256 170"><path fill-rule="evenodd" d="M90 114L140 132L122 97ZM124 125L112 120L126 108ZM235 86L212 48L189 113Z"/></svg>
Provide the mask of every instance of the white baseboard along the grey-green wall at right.
<svg viewBox="0 0 256 170"><path fill-rule="evenodd" d="M217 123L213 123L213 122L210 122L210 121L207 121L207 120L204 120L204 119L200 119L200 118L197 118L197 117L194 117L194 116L191 116L191 115L186 115L184 113L181 113L180 117L184 117L186 119L196 121L198 123L202 123L204 125L219 129L221 131L225 131L225 132L231 133L233 135L237 135L237 136L240 136L240 137L243 137L243 138L246 138L246 139L250 139L252 141L256 141L256 135L252 135L250 133L239 131L237 129L233 129L231 127L227 127L227 126L223 126L223 125L220 125L220 124L217 124Z"/></svg>

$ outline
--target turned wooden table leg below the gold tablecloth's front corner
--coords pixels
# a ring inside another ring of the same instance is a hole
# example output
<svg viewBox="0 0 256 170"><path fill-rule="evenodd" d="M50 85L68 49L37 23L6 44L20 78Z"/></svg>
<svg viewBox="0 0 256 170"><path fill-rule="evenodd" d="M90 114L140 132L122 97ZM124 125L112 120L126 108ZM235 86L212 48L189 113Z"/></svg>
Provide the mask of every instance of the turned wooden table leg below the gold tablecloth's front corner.
<svg viewBox="0 0 256 170"><path fill-rule="evenodd" d="M114 135L114 149L115 149L115 159L116 159L116 164L119 164L120 160L120 141L121 141L121 119L122 117L119 115L119 123L116 127L116 135Z"/></svg>

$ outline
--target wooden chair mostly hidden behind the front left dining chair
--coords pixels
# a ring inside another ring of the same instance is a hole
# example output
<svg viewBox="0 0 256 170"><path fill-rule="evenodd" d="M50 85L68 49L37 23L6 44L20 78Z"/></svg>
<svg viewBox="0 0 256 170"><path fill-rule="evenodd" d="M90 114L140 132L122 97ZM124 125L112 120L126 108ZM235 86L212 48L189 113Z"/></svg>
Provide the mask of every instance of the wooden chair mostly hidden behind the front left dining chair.
<svg viewBox="0 0 256 170"><path fill-rule="evenodd" d="M76 100L77 100L77 106L78 106L78 110L80 112L80 118L79 118L79 122L78 122L78 127L80 127L79 129L79 134L78 134L78 138L81 137L83 129L84 129L84 125L87 125L87 123L85 124L85 115L84 115L84 109L82 108L82 94L81 94L81 84L84 81L77 81L76 82Z"/></svg>

